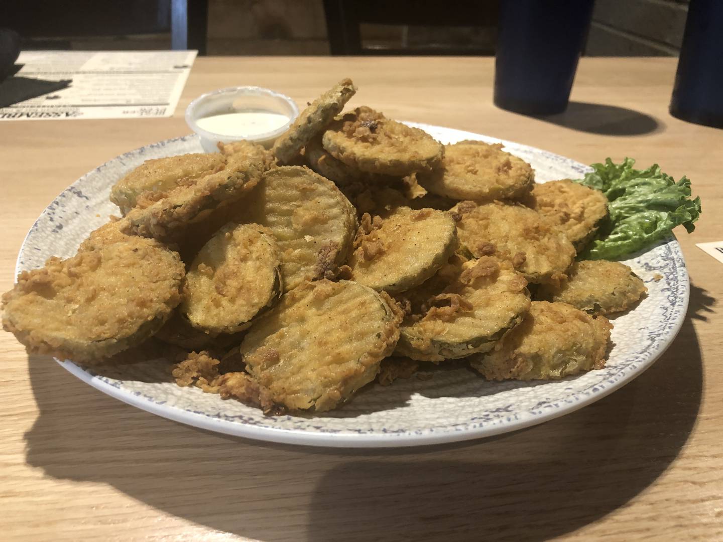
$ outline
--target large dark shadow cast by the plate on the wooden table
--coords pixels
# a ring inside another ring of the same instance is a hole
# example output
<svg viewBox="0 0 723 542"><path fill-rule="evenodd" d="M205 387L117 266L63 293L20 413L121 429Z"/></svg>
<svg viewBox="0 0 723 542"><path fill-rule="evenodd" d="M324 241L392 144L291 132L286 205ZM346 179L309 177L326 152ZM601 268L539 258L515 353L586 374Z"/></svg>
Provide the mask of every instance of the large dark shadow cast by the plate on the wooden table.
<svg viewBox="0 0 723 542"><path fill-rule="evenodd" d="M701 402L692 321L710 304L693 288L675 344L609 397L512 434L422 449L317 449L213 434L160 421L31 356L40 415L26 435L27 462L264 541L544 540L623 507L675 460ZM87 523L110 509L87 509Z"/></svg>

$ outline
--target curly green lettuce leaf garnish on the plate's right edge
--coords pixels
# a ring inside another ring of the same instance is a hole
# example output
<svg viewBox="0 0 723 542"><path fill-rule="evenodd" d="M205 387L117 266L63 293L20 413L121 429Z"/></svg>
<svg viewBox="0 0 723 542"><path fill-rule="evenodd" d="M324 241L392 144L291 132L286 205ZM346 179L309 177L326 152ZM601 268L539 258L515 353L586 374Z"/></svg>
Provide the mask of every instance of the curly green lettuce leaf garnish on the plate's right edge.
<svg viewBox="0 0 723 542"><path fill-rule="evenodd" d="M616 164L609 158L576 182L598 189L609 201L609 219L582 259L617 259L667 236L675 226L690 233L701 215L701 198L690 199L690 181L675 182L659 165L633 169L635 160Z"/></svg>

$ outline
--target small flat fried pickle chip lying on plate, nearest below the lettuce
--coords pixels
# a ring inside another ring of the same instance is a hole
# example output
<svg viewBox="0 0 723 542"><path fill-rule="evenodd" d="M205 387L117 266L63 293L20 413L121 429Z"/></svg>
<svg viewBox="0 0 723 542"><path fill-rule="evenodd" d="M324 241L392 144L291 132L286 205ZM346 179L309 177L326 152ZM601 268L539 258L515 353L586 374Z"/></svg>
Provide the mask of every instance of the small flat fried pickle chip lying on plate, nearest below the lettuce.
<svg viewBox="0 0 723 542"><path fill-rule="evenodd" d="M629 309L648 291L633 270L604 259L575 262L560 285L543 285L539 298L562 301L590 314L613 314Z"/></svg>

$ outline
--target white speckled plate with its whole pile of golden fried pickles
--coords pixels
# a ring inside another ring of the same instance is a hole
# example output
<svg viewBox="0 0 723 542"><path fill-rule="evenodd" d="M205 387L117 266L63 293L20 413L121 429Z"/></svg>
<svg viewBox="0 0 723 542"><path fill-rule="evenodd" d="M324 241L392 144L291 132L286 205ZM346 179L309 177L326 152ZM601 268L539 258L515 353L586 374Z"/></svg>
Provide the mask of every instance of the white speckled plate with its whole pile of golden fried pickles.
<svg viewBox="0 0 723 542"><path fill-rule="evenodd" d="M28 233L4 329L159 416L338 447L541 423L667 348L680 246L586 257L614 218L576 181L591 168L355 93L339 82L270 149L187 136L87 173Z"/></svg>

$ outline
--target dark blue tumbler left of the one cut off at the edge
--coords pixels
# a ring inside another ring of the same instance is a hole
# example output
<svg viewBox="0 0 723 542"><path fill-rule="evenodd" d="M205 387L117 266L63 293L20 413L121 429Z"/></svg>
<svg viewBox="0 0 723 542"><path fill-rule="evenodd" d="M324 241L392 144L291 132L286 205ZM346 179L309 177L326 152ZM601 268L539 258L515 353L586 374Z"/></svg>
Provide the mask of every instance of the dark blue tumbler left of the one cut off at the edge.
<svg viewBox="0 0 723 542"><path fill-rule="evenodd" d="M502 0L495 106L562 113L590 27L594 0Z"/></svg>

